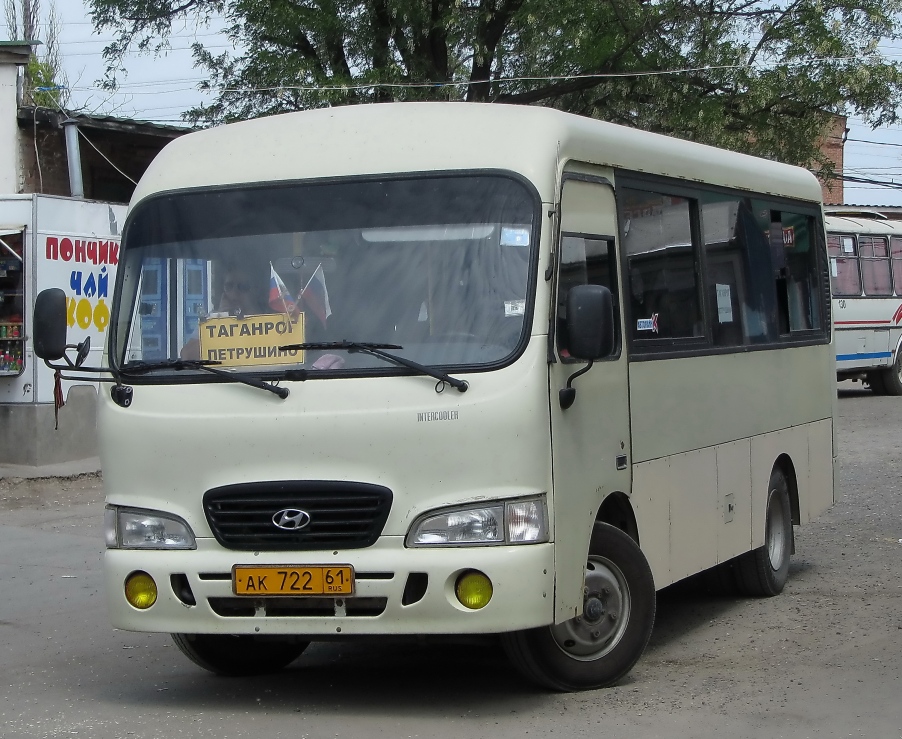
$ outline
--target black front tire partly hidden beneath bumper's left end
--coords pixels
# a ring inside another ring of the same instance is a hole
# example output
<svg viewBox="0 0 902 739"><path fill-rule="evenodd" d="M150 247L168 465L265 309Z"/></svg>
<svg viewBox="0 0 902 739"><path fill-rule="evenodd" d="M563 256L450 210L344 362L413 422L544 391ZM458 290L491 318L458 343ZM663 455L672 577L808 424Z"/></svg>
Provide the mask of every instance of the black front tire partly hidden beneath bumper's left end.
<svg viewBox="0 0 902 739"><path fill-rule="evenodd" d="M194 664L229 677L278 672L310 644L286 637L244 634L172 634L172 641Z"/></svg>

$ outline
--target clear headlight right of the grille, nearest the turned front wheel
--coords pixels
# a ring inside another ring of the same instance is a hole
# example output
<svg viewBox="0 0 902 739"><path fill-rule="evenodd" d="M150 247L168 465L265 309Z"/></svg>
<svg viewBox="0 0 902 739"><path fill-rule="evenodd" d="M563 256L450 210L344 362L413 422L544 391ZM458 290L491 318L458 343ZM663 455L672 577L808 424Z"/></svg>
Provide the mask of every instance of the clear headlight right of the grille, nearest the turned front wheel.
<svg viewBox="0 0 902 739"><path fill-rule="evenodd" d="M407 535L407 546L538 544L548 541L544 497L427 513Z"/></svg>

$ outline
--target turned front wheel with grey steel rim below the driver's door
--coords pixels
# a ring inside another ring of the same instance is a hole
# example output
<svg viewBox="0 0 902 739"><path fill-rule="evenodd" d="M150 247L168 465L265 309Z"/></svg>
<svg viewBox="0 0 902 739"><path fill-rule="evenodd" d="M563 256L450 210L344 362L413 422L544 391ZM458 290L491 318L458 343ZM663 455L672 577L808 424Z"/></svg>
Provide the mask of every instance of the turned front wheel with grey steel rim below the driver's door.
<svg viewBox="0 0 902 739"><path fill-rule="evenodd" d="M655 583L642 550L620 529L595 525L583 615L502 635L511 662L552 690L613 685L642 656L655 623Z"/></svg>

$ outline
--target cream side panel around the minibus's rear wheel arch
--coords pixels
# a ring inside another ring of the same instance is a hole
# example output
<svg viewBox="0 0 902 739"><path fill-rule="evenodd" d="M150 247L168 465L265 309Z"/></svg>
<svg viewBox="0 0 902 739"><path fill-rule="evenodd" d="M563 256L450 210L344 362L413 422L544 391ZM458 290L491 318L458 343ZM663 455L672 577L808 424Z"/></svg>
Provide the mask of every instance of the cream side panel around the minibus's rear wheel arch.
<svg viewBox="0 0 902 739"><path fill-rule="evenodd" d="M781 454L792 461L799 500L808 499L808 430L811 424L762 434L752 439L752 549L764 546L770 475Z"/></svg>

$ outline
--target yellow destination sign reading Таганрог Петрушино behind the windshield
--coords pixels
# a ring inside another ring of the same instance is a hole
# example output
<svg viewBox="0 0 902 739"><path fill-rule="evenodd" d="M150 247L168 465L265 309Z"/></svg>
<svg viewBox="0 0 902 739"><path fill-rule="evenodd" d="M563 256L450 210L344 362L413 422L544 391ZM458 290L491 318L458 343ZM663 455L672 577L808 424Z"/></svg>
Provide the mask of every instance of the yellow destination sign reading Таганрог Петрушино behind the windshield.
<svg viewBox="0 0 902 739"><path fill-rule="evenodd" d="M210 317L201 321L199 339L201 359L226 367L303 364L302 350L283 351L279 347L303 343L304 314L296 321L279 313Z"/></svg>

